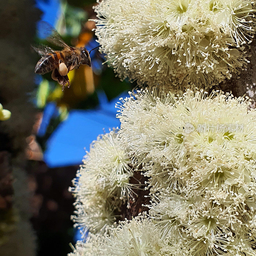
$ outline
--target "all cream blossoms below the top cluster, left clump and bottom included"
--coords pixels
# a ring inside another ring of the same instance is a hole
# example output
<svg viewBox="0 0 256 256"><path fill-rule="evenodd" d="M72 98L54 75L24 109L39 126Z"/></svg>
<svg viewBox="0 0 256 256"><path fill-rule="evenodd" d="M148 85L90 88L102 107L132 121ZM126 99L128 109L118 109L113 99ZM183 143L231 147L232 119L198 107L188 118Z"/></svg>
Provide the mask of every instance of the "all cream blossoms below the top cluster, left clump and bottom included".
<svg viewBox="0 0 256 256"><path fill-rule="evenodd" d="M75 182L76 218L91 232L70 255L256 255L256 111L250 100L158 87L121 100L120 130L92 144ZM198 131L199 125L225 129ZM149 210L118 225L121 204L132 194L117 185L119 177L137 169L148 177Z"/></svg>

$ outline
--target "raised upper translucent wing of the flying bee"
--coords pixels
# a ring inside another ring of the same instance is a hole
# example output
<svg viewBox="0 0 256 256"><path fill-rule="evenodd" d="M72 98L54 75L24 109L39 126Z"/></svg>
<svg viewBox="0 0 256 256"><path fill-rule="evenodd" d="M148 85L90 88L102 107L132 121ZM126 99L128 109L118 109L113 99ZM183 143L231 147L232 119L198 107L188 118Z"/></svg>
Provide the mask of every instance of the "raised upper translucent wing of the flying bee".
<svg viewBox="0 0 256 256"><path fill-rule="evenodd" d="M43 34L49 43L63 48L74 49L63 41L58 31L55 28L53 28L52 25L50 25L48 22L41 21L39 23L39 29L44 31Z"/></svg>

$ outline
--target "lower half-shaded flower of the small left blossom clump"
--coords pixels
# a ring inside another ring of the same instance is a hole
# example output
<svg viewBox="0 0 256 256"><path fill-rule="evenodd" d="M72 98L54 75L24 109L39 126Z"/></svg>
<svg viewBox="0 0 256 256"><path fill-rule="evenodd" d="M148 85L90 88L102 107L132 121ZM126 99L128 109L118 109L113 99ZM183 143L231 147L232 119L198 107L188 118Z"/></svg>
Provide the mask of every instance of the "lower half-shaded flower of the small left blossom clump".
<svg viewBox="0 0 256 256"><path fill-rule="evenodd" d="M80 173L77 175L79 177ZM120 215L121 200L116 195L109 196L108 191L97 184L92 173L85 172L81 177L83 179L73 181L75 188L71 191L76 196L76 211L71 219L83 235L88 229L92 233L105 233Z"/></svg>

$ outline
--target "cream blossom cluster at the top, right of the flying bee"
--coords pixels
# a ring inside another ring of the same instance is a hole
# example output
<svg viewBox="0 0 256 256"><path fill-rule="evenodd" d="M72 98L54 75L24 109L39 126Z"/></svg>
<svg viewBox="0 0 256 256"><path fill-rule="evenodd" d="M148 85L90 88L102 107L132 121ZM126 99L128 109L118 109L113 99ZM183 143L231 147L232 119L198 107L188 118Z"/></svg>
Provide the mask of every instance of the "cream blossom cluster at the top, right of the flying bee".
<svg viewBox="0 0 256 256"><path fill-rule="evenodd" d="M96 35L122 79L211 87L248 62L251 0L103 0Z"/></svg>

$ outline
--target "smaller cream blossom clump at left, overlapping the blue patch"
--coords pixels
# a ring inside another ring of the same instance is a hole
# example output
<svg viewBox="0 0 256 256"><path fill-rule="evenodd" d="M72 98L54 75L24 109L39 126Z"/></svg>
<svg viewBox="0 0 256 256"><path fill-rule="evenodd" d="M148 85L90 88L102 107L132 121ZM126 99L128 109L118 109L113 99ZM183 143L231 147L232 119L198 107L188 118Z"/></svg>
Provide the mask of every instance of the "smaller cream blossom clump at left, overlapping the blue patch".
<svg viewBox="0 0 256 256"><path fill-rule="evenodd" d="M123 200L138 185L129 183L132 158L122 147L119 134L111 131L93 141L71 189L76 196L72 219L85 234L104 233L120 217Z"/></svg>

